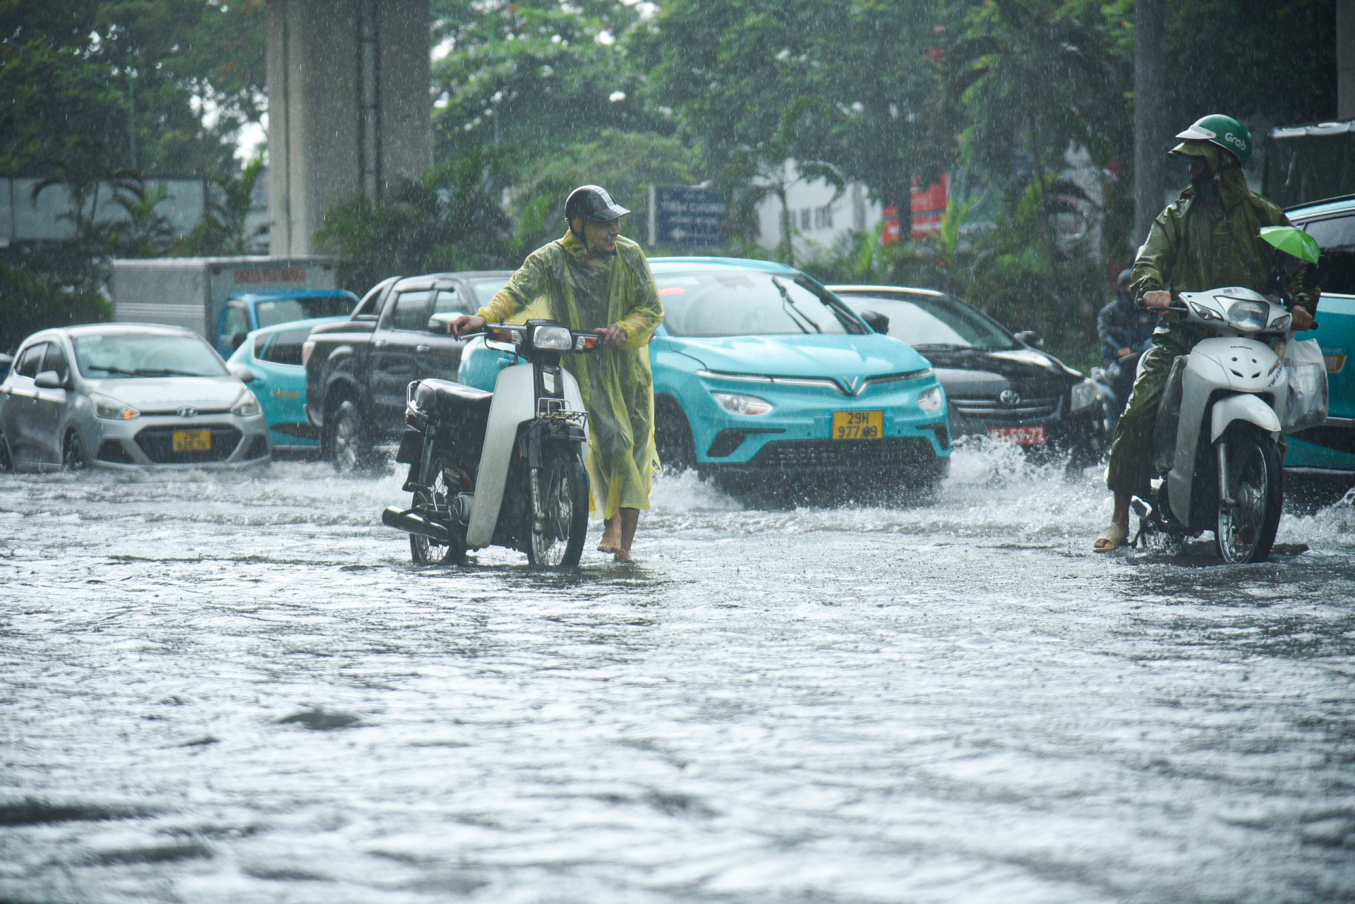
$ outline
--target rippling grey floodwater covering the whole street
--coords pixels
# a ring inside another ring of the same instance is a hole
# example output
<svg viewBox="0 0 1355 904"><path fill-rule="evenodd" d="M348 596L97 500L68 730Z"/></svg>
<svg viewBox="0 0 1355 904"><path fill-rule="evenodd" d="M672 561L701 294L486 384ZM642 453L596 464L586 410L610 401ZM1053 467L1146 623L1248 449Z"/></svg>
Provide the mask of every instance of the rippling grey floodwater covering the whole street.
<svg viewBox="0 0 1355 904"><path fill-rule="evenodd" d="M549 575L411 565L400 482L0 476L0 900L1355 899L1348 503L1096 556L1095 470L970 447Z"/></svg>

